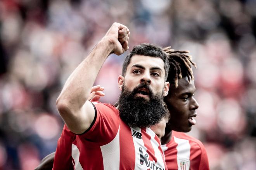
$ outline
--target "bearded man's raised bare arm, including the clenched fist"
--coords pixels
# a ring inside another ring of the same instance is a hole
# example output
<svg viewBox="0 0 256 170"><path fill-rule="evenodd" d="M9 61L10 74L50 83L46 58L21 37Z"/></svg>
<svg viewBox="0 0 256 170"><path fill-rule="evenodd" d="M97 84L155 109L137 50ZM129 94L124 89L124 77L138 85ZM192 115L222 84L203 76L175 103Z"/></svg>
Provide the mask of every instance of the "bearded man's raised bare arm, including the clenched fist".
<svg viewBox="0 0 256 170"><path fill-rule="evenodd" d="M75 134L85 132L93 122L95 111L88 102L90 90L109 54L123 54L128 49L129 29L114 23L106 35L67 79L56 105L64 122Z"/></svg>

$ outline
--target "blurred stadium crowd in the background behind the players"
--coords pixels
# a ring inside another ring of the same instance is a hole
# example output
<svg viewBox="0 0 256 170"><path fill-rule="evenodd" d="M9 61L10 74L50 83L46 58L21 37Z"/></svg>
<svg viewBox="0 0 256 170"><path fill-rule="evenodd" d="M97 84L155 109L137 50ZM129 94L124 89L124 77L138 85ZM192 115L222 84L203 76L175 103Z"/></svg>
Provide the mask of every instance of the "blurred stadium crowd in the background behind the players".
<svg viewBox="0 0 256 170"><path fill-rule="evenodd" d="M57 96L113 22L130 29L130 49L190 51L200 106L189 134L204 143L211 170L255 170L255 0L1 0L0 170L32 170L55 151ZM118 100L127 53L104 63L100 101Z"/></svg>

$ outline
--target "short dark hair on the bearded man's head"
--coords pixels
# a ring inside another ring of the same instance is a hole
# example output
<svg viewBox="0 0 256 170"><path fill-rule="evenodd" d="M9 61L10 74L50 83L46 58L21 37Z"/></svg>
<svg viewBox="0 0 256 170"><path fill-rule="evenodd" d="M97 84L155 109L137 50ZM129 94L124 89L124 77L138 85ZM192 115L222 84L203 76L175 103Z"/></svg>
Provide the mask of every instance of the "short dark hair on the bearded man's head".
<svg viewBox="0 0 256 170"><path fill-rule="evenodd" d="M168 62L167 54L163 51L163 48L153 45L153 44L148 44L148 43L142 43L142 44L139 44L139 45L133 47L130 54L128 54L128 56L126 56L125 61L123 63L123 70L122 70L123 76L125 76L127 66L130 64L131 57L134 55L142 55L142 56L161 58L164 61L164 70L165 70L164 80L165 81L167 80L168 71L169 71L169 62Z"/></svg>

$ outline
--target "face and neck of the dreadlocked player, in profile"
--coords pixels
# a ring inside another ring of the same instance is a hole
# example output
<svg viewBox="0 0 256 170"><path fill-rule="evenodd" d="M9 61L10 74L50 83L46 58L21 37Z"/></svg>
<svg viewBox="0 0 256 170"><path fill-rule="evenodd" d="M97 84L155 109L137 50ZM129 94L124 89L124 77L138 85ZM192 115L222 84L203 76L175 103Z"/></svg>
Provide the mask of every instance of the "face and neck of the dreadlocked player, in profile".
<svg viewBox="0 0 256 170"><path fill-rule="evenodd" d="M170 86L169 94L165 102L170 112L168 128L179 132L189 132L195 125L196 109L199 107L194 98L194 81L188 81L187 77L178 80L178 87Z"/></svg>

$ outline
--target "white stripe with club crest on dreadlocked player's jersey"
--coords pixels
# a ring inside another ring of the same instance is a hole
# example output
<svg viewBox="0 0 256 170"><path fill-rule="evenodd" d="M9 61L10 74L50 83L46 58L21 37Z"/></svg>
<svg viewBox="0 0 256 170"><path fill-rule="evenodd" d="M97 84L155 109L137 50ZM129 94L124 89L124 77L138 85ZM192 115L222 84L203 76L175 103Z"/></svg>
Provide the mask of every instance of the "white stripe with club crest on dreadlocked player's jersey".
<svg viewBox="0 0 256 170"><path fill-rule="evenodd" d="M180 139L173 136L175 143L177 143L177 164L178 170L189 170L190 167L190 144L187 139Z"/></svg>

